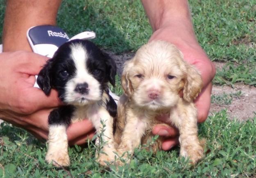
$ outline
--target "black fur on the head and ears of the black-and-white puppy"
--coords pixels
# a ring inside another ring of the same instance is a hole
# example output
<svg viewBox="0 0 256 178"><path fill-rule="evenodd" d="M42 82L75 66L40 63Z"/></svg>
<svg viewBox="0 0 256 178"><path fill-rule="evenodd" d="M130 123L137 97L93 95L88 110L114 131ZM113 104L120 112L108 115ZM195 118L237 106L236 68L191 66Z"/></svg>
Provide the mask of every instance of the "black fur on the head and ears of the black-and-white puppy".
<svg viewBox="0 0 256 178"><path fill-rule="evenodd" d="M70 44L82 44L86 48L88 60L85 64L89 72L105 88L107 82L115 85L116 64L108 54L103 53L93 42L88 40L71 40L59 47L52 59L49 59L44 68L40 71L37 84L45 92L50 94L51 88L57 89L59 98L63 101L65 95L64 86L68 79L74 77L75 64L70 57ZM67 71L68 77L61 76L61 72Z"/></svg>

